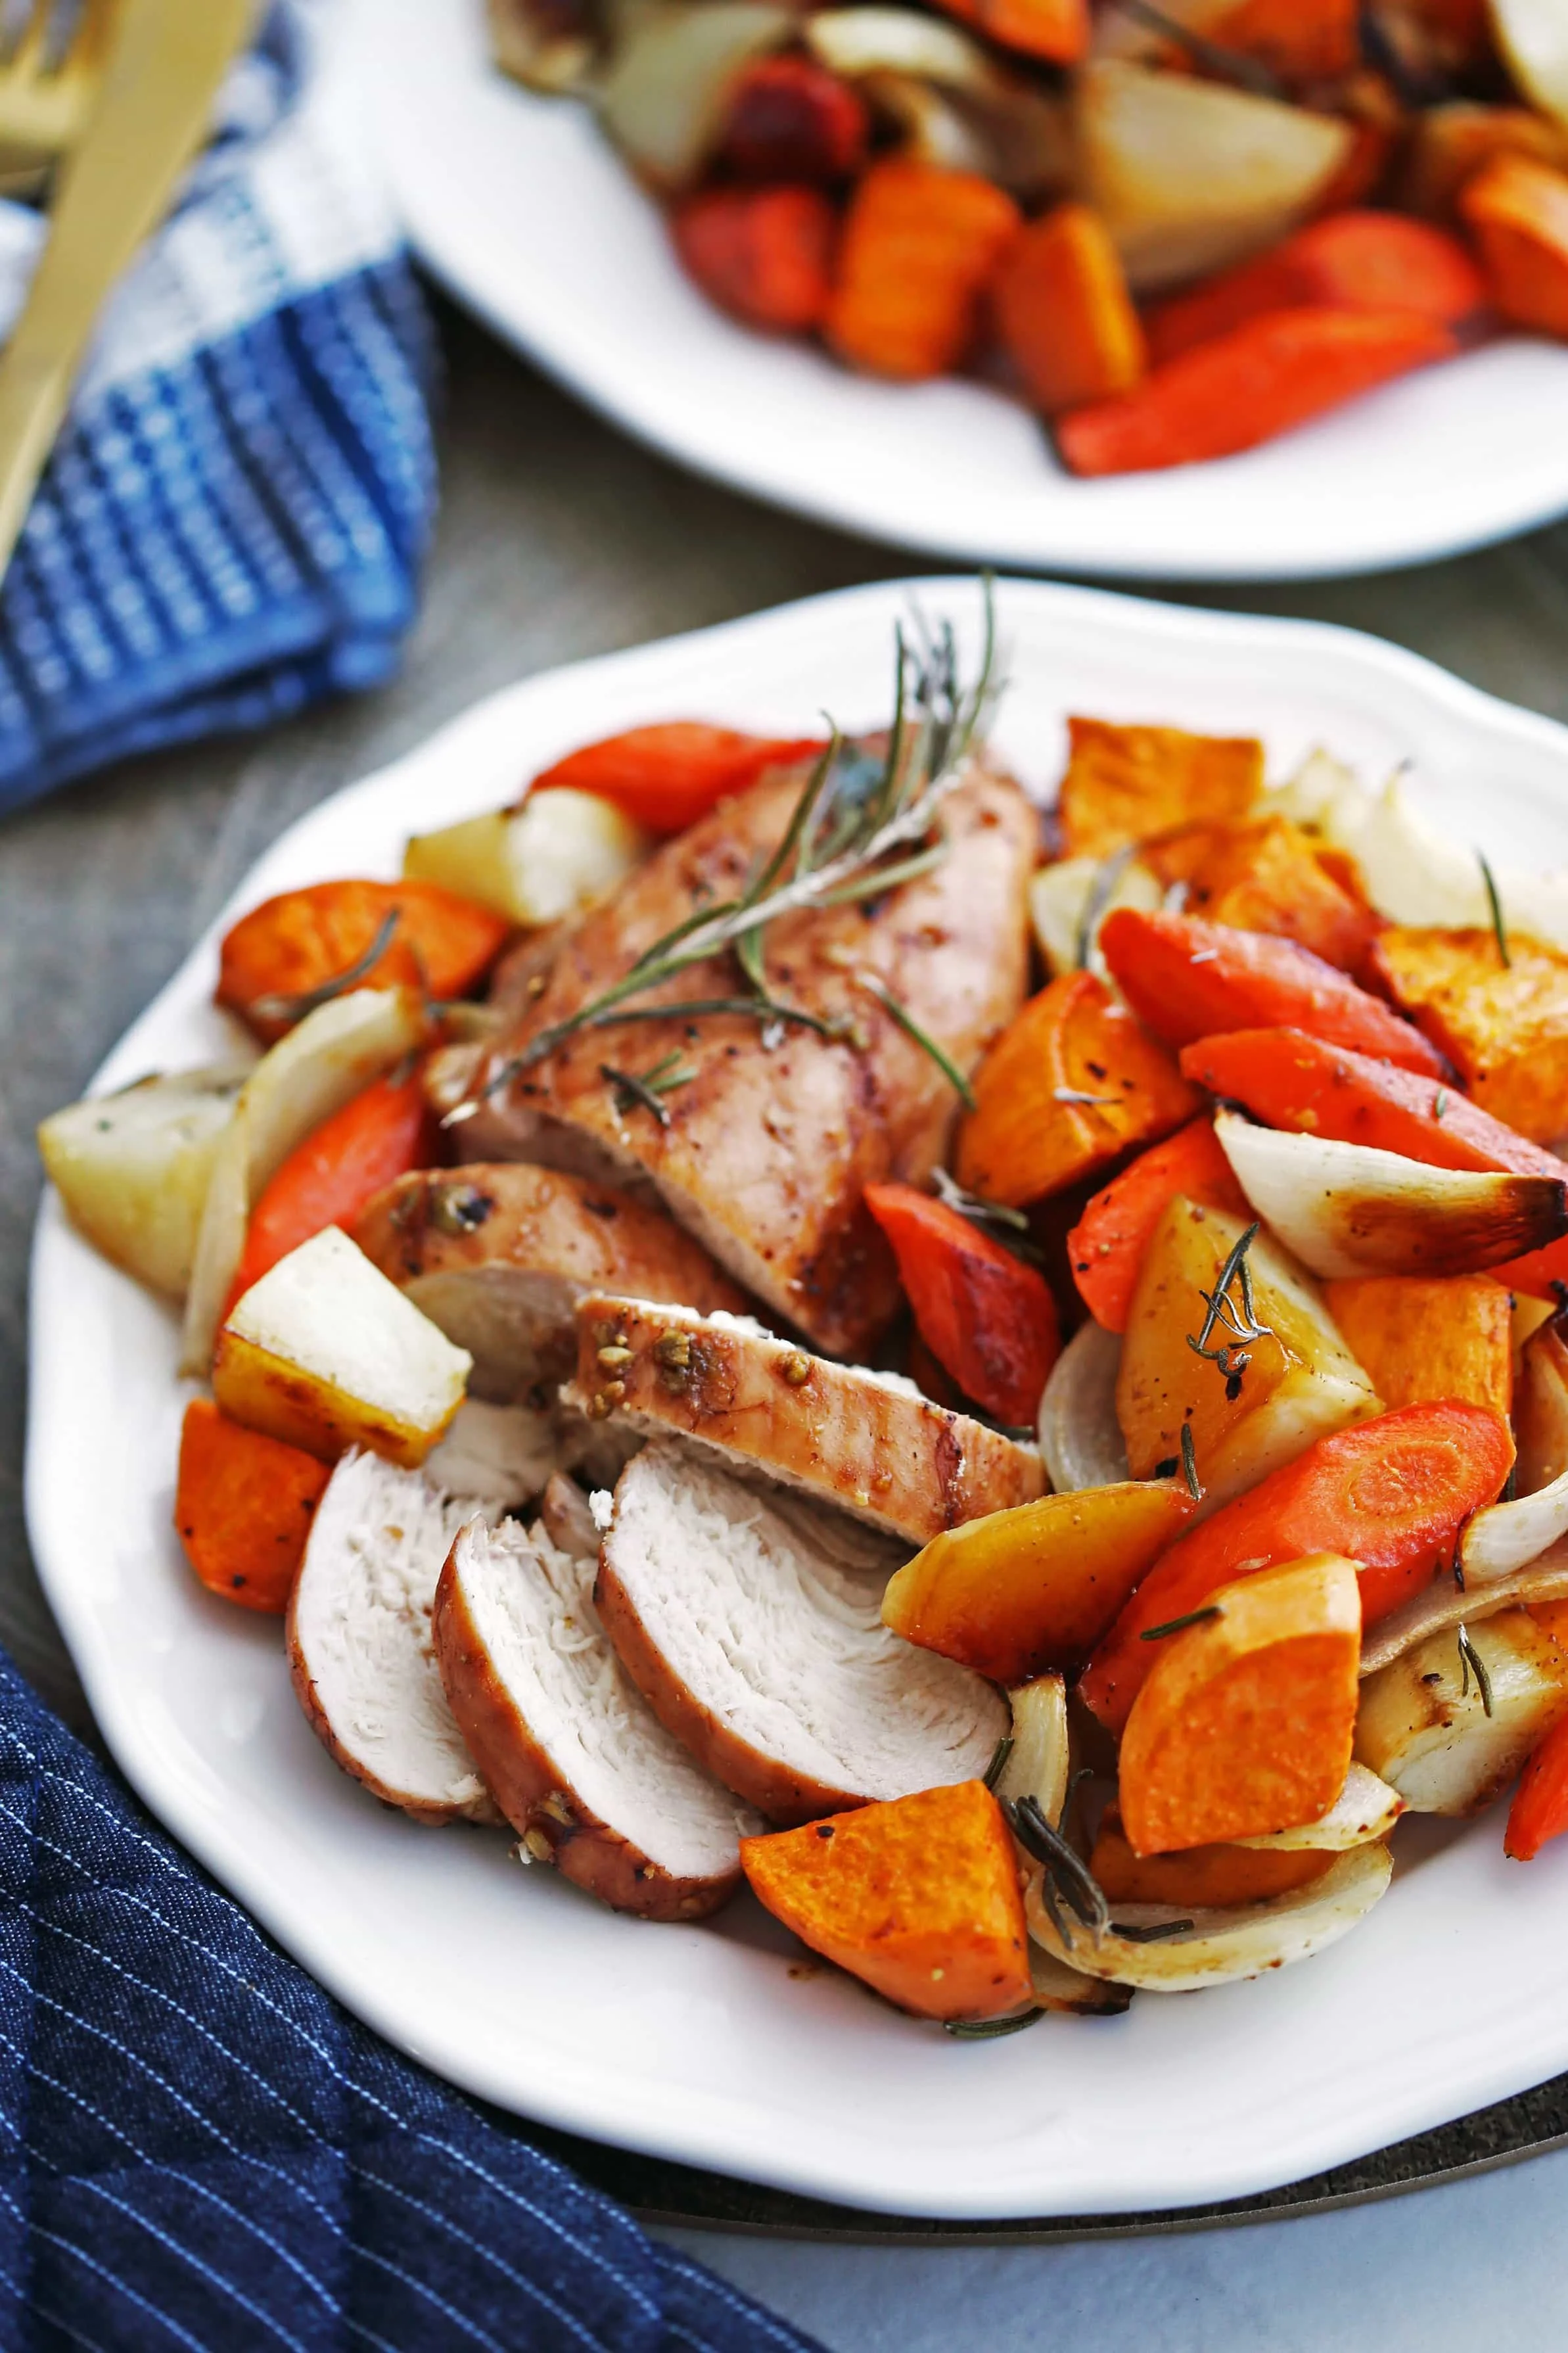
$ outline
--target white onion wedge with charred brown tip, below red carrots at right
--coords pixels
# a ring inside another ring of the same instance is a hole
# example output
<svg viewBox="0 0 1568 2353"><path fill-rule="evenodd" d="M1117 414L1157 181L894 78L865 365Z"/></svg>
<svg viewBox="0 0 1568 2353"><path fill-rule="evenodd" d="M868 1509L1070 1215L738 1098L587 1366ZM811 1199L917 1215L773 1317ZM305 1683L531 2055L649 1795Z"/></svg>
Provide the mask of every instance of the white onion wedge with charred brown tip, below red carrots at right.
<svg viewBox="0 0 1568 2353"><path fill-rule="evenodd" d="M1434 1169L1234 1111L1215 1113L1215 1134L1241 1191L1314 1275L1479 1275L1568 1233L1559 1176Z"/></svg>

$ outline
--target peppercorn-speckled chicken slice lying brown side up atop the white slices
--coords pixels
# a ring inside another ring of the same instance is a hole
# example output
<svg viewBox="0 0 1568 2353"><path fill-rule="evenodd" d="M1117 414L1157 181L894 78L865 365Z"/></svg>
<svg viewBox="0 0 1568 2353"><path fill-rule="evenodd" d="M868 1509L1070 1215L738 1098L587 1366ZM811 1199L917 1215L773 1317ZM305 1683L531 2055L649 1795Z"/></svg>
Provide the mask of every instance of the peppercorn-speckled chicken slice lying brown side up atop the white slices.
<svg viewBox="0 0 1568 2353"><path fill-rule="evenodd" d="M1036 1447L923 1398L913 1381L833 1365L760 1325L589 1294L567 1405L610 1428L680 1435L928 1544L1045 1492Z"/></svg>

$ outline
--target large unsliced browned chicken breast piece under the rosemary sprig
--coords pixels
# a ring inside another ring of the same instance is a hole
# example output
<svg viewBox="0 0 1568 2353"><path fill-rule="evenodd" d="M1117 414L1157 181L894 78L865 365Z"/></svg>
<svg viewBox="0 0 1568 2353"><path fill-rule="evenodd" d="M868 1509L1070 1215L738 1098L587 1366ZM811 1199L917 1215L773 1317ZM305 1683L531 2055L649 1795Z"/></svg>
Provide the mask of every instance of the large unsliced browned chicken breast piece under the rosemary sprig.
<svg viewBox="0 0 1568 2353"><path fill-rule="evenodd" d="M831 1355L857 1355L897 1306L892 1254L864 1188L925 1181L958 1108L951 1082L864 981L906 1007L961 1071L979 1064L1017 1012L1029 969L1024 892L1038 819L1017 784L975 767L944 805L949 849L935 868L883 899L768 927L775 998L838 1024L838 1038L784 1024L765 1042L756 1016L671 1009L582 1028L523 1059L673 925L735 899L782 840L800 786L803 774L784 769L723 802L560 944L544 988L471 1073L476 1108L459 1132L464 1151L497 1160L645 1172L749 1292ZM737 993L746 993L739 969L723 953L638 1009ZM605 1075L659 1066L657 1111Z"/></svg>

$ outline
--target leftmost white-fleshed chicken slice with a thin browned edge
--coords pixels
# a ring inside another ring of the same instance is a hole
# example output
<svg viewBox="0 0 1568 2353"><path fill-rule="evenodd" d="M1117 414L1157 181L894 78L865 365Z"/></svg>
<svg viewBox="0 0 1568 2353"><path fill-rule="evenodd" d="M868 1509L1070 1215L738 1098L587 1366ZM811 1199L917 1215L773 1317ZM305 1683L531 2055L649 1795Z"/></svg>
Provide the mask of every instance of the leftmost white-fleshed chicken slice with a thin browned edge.
<svg viewBox="0 0 1568 2353"><path fill-rule="evenodd" d="M452 1720L436 1647L436 1579L483 1506L424 1471L344 1454L315 1506L287 1609L294 1692L344 1772L417 1821L499 1821Z"/></svg>

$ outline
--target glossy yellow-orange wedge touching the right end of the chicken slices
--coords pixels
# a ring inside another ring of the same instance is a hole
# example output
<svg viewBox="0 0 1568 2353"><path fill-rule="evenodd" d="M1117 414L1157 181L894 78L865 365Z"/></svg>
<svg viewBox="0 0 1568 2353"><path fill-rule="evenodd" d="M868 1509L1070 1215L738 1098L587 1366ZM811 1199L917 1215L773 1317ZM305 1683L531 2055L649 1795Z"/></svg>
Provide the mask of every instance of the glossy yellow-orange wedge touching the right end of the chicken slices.
<svg viewBox="0 0 1568 2353"><path fill-rule="evenodd" d="M883 1624L991 1682L1078 1666L1191 1508L1180 1480L1125 1480L965 1520L892 1577Z"/></svg>

